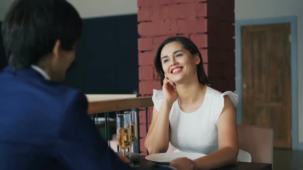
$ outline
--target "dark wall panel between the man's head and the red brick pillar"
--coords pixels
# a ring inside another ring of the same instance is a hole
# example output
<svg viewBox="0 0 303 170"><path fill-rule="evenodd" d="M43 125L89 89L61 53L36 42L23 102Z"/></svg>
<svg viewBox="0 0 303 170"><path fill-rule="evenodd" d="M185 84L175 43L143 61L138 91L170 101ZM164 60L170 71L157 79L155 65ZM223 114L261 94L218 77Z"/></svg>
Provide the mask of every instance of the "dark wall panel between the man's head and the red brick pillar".
<svg viewBox="0 0 303 170"><path fill-rule="evenodd" d="M137 39L136 14L84 19L66 84L84 93L137 93Z"/></svg>

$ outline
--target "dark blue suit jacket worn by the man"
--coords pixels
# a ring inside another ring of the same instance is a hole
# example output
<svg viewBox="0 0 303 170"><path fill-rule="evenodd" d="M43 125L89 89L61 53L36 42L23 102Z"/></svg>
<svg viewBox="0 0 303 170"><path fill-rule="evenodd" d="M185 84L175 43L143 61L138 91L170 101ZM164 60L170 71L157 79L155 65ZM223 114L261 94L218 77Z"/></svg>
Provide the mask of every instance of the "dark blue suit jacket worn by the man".
<svg viewBox="0 0 303 170"><path fill-rule="evenodd" d="M129 169L107 147L78 90L35 70L0 73L0 169Z"/></svg>

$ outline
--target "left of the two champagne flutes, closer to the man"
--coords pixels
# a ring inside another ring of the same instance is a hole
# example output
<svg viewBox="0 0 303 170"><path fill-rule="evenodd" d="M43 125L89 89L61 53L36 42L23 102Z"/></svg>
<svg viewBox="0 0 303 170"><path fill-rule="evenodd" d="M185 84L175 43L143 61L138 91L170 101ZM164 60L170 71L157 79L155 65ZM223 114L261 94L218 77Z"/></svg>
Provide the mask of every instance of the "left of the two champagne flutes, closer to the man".
<svg viewBox="0 0 303 170"><path fill-rule="evenodd" d="M117 114L117 143L125 156L125 150L131 143L129 114Z"/></svg>

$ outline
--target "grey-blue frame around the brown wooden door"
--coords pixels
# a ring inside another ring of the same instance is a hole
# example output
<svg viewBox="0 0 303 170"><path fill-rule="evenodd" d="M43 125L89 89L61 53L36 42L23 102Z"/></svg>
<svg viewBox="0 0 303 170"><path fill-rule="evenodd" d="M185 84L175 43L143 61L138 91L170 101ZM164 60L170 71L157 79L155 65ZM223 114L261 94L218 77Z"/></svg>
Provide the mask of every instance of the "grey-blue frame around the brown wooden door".
<svg viewBox="0 0 303 170"><path fill-rule="evenodd" d="M241 28L243 26L268 25L268 24L290 24L291 33L291 115L292 115L292 149L303 149L303 143L298 138L298 70L297 70L297 17L278 17L236 20L236 92L239 95L237 106L237 123L242 124L242 51L241 51Z"/></svg>

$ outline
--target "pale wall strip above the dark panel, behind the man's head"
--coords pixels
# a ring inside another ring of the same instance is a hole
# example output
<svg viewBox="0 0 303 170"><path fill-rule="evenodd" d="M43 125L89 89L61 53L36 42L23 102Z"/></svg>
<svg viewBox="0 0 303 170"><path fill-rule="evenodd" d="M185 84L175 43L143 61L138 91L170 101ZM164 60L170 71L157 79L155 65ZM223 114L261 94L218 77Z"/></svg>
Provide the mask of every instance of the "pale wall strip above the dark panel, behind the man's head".
<svg viewBox="0 0 303 170"><path fill-rule="evenodd" d="M82 18L137 13L137 0L67 0ZM0 21L13 0L0 0Z"/></svg>

